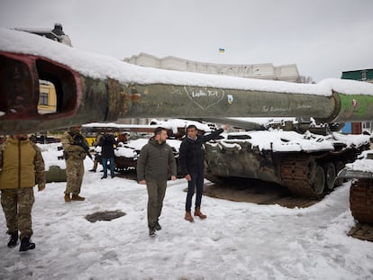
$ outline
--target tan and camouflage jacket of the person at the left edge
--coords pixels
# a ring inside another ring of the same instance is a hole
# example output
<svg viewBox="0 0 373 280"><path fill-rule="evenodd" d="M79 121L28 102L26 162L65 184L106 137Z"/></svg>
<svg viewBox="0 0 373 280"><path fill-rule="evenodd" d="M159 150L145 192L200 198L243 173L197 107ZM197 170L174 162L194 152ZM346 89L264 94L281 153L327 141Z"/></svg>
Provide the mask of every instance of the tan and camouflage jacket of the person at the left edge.
<svg viewBox="0 0 373 280"><path fill-rule="evenodd" d="M0 189L45 187L41 150L30 140L9 138L0 145Z"/></svg>

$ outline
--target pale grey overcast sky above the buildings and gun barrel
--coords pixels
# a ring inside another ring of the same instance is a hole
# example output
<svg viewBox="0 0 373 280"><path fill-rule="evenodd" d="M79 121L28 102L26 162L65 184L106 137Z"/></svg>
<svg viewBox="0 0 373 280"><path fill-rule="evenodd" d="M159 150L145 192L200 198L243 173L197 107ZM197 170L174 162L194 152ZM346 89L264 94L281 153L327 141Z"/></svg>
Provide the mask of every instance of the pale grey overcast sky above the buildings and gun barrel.
<svg viewBox="0 0 373 280"><path fill-rule="evenodd" d="M0 27L62 23L74 48L117 59L295 63L318 82L373 68L372 11L372 0L0 0Z"/></svg>

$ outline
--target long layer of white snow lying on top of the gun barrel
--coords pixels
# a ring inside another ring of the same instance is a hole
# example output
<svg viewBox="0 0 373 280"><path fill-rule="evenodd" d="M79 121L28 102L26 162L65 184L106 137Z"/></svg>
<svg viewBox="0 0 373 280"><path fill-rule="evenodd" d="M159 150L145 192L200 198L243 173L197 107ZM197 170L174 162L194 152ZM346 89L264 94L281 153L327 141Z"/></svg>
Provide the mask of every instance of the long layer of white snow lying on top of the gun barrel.
<svg viewBox="0 0 373 280"><path fill-rule="evenodd" d="M373 95L373 85L352 80L325 79L318 84L310 85L143 68L118 59L70 48L35 34L5 28L0 28L0 51L41 56L68 65L84 76L104 79L110 77L123 84L211 86L325 96L332 95L333 89L347 95Z"/></svg>

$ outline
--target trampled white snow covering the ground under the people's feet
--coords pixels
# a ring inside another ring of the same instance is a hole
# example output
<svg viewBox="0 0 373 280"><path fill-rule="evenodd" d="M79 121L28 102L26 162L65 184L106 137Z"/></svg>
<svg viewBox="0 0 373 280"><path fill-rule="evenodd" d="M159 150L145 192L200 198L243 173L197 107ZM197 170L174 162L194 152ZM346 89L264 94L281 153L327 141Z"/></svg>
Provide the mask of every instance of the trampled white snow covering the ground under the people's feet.
<svg viewBox="0 0 373 280"><path fill-rule="evenodd" d="M47 165L54 145L46 145ZM92 161L85 160L86 170ZM147 228L145 185L87 172L85 202L65 203L66 183L35 191L36 243L21 253L0 232L0 279L372 279L373 243L347 232L350 182L308 208L236 203L203 197L204 221L184 220L187 182L168 181L155 238ZM99 211L126 213L86 221ZM0 223L5 225L4 214Z"/></svg>

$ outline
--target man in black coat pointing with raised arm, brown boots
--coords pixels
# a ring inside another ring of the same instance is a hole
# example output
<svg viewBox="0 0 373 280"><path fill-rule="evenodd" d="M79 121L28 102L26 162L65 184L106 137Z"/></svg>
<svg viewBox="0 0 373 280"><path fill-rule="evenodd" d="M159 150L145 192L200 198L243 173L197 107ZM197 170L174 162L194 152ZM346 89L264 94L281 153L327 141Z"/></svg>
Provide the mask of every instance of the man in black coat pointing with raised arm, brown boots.
<svg viewBox="0 0 373 280"><path fill-rule="evenodd" d="M187 221L193 221L190 212L192 207L192 198L195 194L196 187L196 208L195 216L200 219L205 219L207 216L201 212L202 193L204 191L204 150L202 145L219 137L227 126L223 129L212 132L209 135L197 135L196 125L191 124L187 126L187 137L180 145L179 161L183 176L187 179L187 202L186 202L186 216Z"/></svg>

